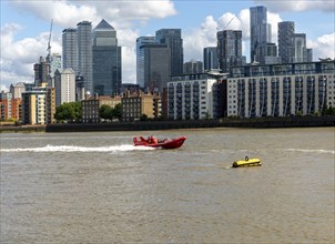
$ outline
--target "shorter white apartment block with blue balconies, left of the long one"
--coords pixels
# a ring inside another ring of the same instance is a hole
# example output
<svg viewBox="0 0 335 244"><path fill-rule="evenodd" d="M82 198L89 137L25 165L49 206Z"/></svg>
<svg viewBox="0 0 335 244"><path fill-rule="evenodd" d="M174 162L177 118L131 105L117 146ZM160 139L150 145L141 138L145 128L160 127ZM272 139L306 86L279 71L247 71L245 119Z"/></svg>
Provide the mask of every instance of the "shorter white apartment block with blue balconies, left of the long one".
<svg viewBox="0 0 335 244"><path fill-rule="evenodd" d="M213 84L207 74L175 77L168 82L168 114L174 120L213 118Z"/></svg>

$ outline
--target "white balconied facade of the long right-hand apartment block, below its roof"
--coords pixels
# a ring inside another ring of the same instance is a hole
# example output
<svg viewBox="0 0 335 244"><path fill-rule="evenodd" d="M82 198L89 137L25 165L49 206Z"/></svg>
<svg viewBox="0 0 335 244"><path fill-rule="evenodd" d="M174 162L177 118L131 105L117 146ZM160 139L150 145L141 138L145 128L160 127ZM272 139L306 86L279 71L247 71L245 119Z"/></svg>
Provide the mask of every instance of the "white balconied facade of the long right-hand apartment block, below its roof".
<svg viewBox="0 0 335 244"><path fill-rule="evenodd" d="M335 106L335 73L227 79L227 116L313 114Z"/></svg>

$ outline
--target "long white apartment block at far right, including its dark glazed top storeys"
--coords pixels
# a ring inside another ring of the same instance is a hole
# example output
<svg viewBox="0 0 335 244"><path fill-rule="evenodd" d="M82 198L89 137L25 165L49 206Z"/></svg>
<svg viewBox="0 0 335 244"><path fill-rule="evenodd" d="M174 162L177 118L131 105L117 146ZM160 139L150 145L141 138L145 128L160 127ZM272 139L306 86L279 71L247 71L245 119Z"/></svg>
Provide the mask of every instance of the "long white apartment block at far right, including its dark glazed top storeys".
<svg viewBox="0 0 335 244"><path fill-rule="evenodd" d="M227 116L314 114L335 106L335 62L232 68L227 79Z"/></svg>

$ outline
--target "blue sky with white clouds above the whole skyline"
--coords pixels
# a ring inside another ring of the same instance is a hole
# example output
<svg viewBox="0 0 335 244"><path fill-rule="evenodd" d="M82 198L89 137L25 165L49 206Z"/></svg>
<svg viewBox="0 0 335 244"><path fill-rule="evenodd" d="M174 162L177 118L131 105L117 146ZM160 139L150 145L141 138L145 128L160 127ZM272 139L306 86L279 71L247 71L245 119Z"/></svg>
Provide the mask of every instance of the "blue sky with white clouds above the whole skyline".
<svg viewBox="0 0 335 244"><path fill-rule="evenodd" d="M106 20L122 47L122 82L135 83L135 41L166 28L182 29L184 62L201 60L204 47L216 45L216 32L242 30L243 54L250 61L251 7L265 6L277 43L277 23L294 21L296 33L306 33L313 58L335 57L334 0L1 0L1 84L33 82L33 63L51 52L62 53L62 30L83 20L92 27Z"/></svg>

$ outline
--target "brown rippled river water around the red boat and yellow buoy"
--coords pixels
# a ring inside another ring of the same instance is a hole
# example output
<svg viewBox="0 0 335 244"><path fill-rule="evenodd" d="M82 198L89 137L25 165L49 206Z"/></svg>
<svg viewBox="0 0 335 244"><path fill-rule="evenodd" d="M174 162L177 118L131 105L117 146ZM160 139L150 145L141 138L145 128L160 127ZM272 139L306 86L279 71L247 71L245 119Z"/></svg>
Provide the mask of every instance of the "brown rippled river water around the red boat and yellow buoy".
<svg viewBox="0 0 335 244"><path fill-rule="evenodd" d="M334 243L334 128L135 133L0 134L1 243Z"/></svg>

